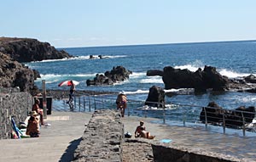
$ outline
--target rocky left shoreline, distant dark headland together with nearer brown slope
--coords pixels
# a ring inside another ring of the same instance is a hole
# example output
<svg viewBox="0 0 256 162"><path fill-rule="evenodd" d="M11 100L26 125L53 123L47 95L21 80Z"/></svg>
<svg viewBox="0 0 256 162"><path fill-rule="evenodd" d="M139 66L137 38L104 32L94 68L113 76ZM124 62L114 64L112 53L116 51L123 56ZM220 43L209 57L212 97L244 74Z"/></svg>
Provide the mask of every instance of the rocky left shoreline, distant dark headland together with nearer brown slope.
<svg viewBox="0 0 256 162"><path fill-rule="evenodd" d="M0 37L0 87L20 87L21 92L33 94L38 91L34 81L40 75L37 70L31 70L20 63L71 57L63 50L56 50L48 42Z"/></svg>

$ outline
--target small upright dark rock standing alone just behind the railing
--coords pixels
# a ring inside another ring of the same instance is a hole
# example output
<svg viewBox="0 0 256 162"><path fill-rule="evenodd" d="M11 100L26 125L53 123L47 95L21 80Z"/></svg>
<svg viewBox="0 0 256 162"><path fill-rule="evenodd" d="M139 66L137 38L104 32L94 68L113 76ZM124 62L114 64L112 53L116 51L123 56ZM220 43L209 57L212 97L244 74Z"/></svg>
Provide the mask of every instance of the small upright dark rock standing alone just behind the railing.
<svg viewBox="0 0 256 162"><path fill-rule="evenodd" d="M145 102L145 105L157 107L157 108L163 108L164 105L162 103L165 103L165 91L161 87L150 87L148 98Z"/></svg>

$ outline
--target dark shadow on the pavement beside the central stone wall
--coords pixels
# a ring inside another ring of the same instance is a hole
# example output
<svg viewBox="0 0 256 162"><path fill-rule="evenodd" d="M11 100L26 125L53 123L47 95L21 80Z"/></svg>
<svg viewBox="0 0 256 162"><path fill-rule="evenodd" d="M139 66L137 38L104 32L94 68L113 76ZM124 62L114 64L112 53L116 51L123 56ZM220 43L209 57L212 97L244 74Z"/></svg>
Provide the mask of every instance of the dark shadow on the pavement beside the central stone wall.
<svg viewBox="0 0 256 162"><path fill-rule="evenodd" d="M78 148L79 143L81 142L82 137L80 137L79 139L73 140L72 142L70 142L70 145L67 147L67 149L65 150L65 153L62 154L61 159L59 162L69 162L73 160L73 154L76 148Z"/></svg>

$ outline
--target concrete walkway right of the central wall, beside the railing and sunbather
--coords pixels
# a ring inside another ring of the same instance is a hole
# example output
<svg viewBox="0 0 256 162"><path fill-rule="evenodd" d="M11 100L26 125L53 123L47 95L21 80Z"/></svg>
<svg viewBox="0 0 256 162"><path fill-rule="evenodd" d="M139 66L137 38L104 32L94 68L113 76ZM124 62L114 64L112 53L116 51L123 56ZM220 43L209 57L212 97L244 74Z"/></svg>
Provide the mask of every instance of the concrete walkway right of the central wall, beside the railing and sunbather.
<svg viewBox="0 0 256 162"><path fill-rule="evenodd" d="M125 131L134 137L135 127L139 125L140 117L126 117L123 121ZM256 137L239 137L223 133L214 133L201 127L167 126L156 119L143 119L146 129L151 135L156 136L152 143L160 143L162 139L171 139L172 142L164 143L173 148L185 148L196 153L207 153L214 157L225 157L234 161L256 161ZM177 147L178 146L178 147Z"/></svg>

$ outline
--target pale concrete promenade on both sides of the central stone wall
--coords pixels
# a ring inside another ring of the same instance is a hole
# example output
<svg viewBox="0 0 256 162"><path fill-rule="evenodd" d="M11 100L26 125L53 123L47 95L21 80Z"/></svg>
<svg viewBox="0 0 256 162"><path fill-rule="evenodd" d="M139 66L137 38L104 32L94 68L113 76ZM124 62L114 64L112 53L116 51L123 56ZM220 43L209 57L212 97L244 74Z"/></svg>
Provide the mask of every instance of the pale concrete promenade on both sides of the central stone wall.
<svg viewBox="0 0 256 162"><path fill-rule="evenodd" d="M0 161L10 162L55 162L70 161L73 159L73 150L77 147L90 120L89 113L52 112L48 115L47 122L51 126L41 128L41 137L0 140ZM154 140L172 139L165 143L170 146L181 146L198 152L223 154L236 161L256 161L255 137L238 137L221 133L213 133L196 128L183 126L166 126L155 124L155 119L130 116L122 119L125 132L134 131L139 120L145 121L145 126Z"/></svg>

